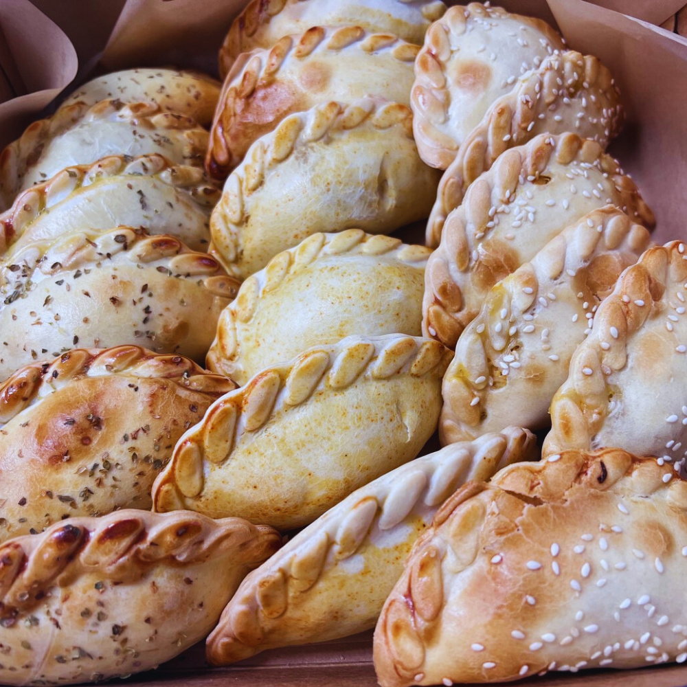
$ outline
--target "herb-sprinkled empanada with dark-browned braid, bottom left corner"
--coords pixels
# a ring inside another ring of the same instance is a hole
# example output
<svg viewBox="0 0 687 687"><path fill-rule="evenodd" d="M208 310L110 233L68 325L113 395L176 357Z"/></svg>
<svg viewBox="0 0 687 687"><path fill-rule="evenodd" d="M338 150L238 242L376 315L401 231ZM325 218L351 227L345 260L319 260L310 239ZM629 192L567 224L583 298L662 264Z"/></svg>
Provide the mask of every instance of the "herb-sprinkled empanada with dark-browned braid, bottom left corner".
<svg viewBox="0 0 687 687"><path fill-rule="evenodd" d="M74 517L0 546L0 682L99 682L202 640L272 528L197 513Z"/></svg>

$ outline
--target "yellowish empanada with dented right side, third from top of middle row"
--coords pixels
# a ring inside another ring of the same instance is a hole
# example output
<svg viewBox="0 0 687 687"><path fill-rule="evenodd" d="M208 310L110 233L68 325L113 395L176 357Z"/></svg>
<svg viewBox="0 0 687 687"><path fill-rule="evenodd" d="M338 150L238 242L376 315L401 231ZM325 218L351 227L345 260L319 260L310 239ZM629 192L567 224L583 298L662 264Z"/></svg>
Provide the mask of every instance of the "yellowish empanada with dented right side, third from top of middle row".
<svg viewBox="0 0 687 687"><path fill-rule="evenodd" d="M258 139L210 218L227 271L246 279L315 232L389 234L427 217L439 177L418 156L412 116L376 98L326 102Z"/></svg>

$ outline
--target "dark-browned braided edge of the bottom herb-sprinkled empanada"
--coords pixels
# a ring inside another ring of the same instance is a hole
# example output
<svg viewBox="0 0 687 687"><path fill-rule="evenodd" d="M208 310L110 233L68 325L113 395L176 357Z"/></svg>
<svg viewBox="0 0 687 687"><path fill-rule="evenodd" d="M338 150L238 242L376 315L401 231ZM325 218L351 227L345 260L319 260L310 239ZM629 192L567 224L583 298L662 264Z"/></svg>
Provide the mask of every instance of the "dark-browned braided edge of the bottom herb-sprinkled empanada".
<svg viewBox="0 0 687 687"><path fill-rule="evenodd" d="M251 539L259 541L257 550L242 545ZM0 545L0 609L21 612L35 607L63 574L71 583L95 571L103 580L121 579L123 572L144 572L160 564L202 563L223 544L233 564L249 565L275 552L280 539L268 526L186 511L127 509L102 517L71 517L40 534Z"/></svg>

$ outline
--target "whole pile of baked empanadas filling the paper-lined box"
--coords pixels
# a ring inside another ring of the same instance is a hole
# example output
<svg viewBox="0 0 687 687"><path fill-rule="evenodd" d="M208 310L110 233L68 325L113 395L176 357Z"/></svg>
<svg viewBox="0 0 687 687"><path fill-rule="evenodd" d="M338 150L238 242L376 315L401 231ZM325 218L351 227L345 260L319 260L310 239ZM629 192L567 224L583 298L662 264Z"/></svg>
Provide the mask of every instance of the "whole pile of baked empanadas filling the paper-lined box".
<svg viewBox="0 0 687 687"><path fill-rule="evenodd" d="M385 687L686 660L687 264L608 69L431 0L253 0L220 66L0 158L0 682L375 624Z"/></svg>

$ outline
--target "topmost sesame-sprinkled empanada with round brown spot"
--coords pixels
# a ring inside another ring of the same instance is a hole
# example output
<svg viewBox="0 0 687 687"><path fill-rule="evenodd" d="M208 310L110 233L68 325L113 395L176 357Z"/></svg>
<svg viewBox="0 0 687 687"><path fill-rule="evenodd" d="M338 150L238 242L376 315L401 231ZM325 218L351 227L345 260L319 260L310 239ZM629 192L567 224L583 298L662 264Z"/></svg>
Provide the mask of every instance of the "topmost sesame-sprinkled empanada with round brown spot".
<svg viewBox="0 0 687 687"><path fill-rule="evenodd" d="M411 106L420 157L446 169L489 106L563 49L541 19L476 2L449 8L427 30L415 63Z"/></svg>

